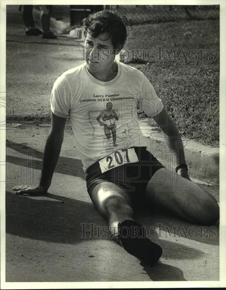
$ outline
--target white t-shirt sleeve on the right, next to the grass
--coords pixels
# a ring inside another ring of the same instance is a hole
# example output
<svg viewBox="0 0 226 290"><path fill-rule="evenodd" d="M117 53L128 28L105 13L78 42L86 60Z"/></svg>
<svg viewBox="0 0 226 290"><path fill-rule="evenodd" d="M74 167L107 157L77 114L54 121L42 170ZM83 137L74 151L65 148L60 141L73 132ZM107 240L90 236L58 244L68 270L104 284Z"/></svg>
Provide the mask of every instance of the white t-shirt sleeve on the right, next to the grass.
<svg viewBox="0 0 226 290"><path fill-rule="evenodd" d="M145 75L143 76L142 92L138 96L138 107L149 117L154 117L163 110L162 100L158 98Z"/></svg>

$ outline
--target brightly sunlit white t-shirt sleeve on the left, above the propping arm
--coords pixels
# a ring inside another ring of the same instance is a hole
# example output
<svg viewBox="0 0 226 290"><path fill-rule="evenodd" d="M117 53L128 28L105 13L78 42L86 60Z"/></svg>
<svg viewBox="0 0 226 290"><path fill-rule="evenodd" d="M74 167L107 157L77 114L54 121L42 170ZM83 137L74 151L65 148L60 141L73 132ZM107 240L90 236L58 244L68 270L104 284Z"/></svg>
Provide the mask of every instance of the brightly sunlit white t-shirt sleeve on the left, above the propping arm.
<svg viewBox="0 0 226 290"><path fill-rule="evenodd" d="M51 110L58 117L67 118L70 111L71 91L65 75L54 83L50 98Z"/></svg>

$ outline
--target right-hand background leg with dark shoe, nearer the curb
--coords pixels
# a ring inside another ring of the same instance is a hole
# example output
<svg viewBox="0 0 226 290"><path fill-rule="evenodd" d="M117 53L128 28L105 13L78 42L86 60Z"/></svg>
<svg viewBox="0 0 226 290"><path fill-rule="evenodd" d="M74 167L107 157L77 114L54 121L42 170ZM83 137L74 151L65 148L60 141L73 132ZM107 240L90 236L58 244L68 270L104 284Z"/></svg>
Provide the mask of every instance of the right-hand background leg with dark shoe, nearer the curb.
<svg viewBox="0 0 226 290"><path fill-rule="evenodd" d="M52 5L40 5L41 9L41 23L43 29L42 38L55 39L57 35L50 31L50 14L52 12Z"/></svg>

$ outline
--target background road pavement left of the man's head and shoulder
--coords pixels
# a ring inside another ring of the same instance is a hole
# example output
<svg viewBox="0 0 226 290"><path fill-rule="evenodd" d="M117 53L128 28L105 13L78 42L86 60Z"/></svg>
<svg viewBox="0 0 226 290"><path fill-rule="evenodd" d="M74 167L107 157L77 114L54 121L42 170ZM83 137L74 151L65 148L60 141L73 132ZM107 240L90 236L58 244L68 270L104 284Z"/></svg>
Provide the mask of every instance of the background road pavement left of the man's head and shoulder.
<svg viewBox="0 0 226 290"><path fill-rule="evenodd" d="M20 99L24 120L50 117L50 95L54 81L66 70L84 62L82 42L58 36L26 36L22 14L17 5L7 9L6 92ZM41 29L40 23L36 26Z"/></svg>

